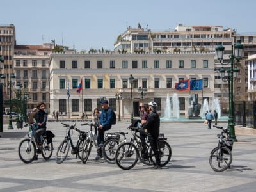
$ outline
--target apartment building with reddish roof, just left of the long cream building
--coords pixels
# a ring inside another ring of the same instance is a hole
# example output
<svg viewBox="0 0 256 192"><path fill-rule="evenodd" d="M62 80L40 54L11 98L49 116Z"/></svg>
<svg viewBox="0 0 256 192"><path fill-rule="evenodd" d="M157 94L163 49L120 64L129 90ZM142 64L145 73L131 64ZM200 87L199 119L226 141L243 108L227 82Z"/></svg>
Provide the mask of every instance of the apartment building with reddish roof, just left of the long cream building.
<svg viewBox="0 0 256 192"><path fill-rule="evenodd" d="M28 110L38 102L45 102L49 109L49 56L54 44L15 45L13 70L16 83L22 85L22 92L29 93Z"/></svg>

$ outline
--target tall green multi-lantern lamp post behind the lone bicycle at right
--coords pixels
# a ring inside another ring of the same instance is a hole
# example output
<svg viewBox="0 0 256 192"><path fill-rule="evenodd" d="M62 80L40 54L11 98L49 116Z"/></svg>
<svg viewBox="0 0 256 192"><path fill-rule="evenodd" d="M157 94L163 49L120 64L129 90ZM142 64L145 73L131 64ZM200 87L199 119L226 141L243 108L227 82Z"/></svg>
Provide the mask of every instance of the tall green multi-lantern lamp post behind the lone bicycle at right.
<svg viewBox="0 0 256 192"><path fill-rule="evenodd" d="M229 116L228 116L228 130L230 131L230 138L233 141L237 141L236 134L235 134L235 124L234 124L234 99L233 99L233 79L234 77L237 77L237 72L239 72L239 69L236 67L234 68L234 64L237 64L239 60L242 58L242 52L243 52L243 45L238 40L236 45L233 48L232 45L232 52L229 56L228 63L222 63L223 60L223 52L225 50L225 47L222 45L218 45L216 47L216 56L218 60L220 61L221 65L229 65L228 68L220 68L219 72L221 75L221 79L224 82L228 81L228 94L229 94ZM236 63L235 63L236 60ZM227 76L225 76L225 72L227 72Z"/></svg>

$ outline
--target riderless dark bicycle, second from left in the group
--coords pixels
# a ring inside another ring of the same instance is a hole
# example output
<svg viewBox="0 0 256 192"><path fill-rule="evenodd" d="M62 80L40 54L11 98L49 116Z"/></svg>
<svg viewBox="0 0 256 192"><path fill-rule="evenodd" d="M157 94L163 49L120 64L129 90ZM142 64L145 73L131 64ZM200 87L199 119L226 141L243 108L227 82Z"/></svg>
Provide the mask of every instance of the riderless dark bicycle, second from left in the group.
<svg viewBox="0 0 256 192"><path fill-rule="evenodd" d="M83 150L84 141L86 140L86 132L77 129L76 123L74 123L73 125L68 125L68 124L64 124L64 123L61 123L61 124L63 124L65 127L67 127L67 130L66 130L66 136L65 136L64 140L61 142L61 144L58 147L58 150L56 153L56 163L60 164L60 163L63 163L63 161L65 161L65 159L68 156L70 145L72 148L71 154L72 155L76 154L76 158L78 156L79 159L82 160L82 150ZM73 130L75 130L79 133L79 138L76 142L76 146L74 145L72 138L71 138L73 132L70 133Z"/></svg>

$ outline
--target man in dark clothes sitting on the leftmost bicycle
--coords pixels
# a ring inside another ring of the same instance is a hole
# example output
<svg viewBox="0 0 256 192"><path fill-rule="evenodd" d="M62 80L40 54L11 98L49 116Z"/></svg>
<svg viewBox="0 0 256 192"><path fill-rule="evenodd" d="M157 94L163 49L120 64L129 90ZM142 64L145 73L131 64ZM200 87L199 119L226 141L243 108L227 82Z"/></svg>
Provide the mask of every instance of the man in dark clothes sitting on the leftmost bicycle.
<svg viewBox="0 0 256 192"><path fill-rule="evenodd" d="M42 145L41 136L46 132L46 122L47 122L47 113L45 112L45 104L44 102L41 102L37 106L38 111L35 115L36 120L36 134L35 134L35 140L38 145Z"/></svg>

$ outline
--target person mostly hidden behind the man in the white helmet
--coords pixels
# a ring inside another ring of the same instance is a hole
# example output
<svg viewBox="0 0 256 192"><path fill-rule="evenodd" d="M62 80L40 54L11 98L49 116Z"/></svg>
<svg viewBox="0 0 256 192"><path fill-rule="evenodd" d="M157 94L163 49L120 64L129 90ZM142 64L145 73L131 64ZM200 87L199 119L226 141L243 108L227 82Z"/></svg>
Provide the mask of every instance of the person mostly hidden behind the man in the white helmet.
<svg viewBox="0 0 256 192"><path fill-rule="evenodd" d="M145 124L148 120L148 105L140 103L139 110L141 113L141 124ZM146 138L147 138L147 132L145 132L145 129L140 130L140 140L141 145L143 148L143 151L141 152L141 157L147 161L148 154L146 152L147 146L146 146Z"/></svg>

